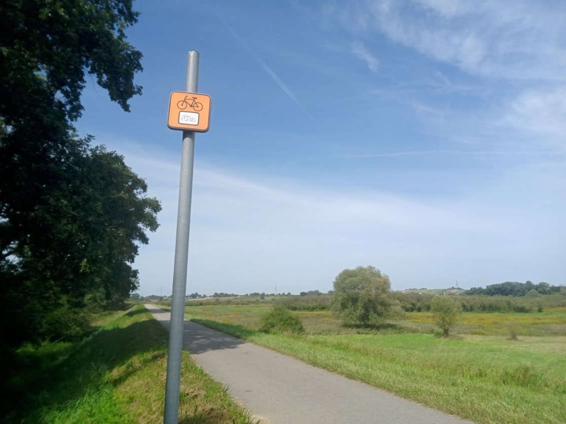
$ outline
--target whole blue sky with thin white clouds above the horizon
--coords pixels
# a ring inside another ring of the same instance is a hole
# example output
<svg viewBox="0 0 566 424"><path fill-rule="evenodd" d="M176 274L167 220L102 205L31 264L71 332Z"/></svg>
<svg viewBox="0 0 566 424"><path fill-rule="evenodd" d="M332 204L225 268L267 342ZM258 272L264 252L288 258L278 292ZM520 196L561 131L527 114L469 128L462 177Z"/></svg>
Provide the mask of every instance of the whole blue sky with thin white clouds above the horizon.
<svg viewBox="0 0 566 424"><path fill-rule="evenodd" d="M189 50L196 135L187 293L327 291L374 265L393 289L566 284L566 3L134 3L131 113L89 80L82 135L163 205L142 295L171 293Z"/></svg>

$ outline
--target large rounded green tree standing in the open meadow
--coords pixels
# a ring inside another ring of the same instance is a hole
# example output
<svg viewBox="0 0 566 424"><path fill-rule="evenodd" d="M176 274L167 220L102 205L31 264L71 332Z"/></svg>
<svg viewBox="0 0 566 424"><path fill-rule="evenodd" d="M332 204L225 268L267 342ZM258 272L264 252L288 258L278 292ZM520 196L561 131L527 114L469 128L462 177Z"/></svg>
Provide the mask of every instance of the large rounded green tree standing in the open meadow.
<svg viewBox="0 0 566 424"><path fill-rule="evenodd" d="M334 280L331 308L345 325L371 326L402 315L391 282L374 266L345 269Z"/></svg>

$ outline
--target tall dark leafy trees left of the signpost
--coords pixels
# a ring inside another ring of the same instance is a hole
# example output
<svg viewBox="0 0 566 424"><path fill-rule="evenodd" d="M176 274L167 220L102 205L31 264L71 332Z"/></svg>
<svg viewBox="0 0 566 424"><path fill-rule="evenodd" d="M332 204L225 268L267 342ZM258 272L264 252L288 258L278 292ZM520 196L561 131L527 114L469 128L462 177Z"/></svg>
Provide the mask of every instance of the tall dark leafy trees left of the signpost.
<svg viewBox="0 0 566 424"><path fill-rule="evenodd" d="M130 0L0 4L2 343L78 334L86 306L138 285L131 263L160 205L72 126L88 75L125 111L141 93L141 53L125 36L137 16Z"/></svg>

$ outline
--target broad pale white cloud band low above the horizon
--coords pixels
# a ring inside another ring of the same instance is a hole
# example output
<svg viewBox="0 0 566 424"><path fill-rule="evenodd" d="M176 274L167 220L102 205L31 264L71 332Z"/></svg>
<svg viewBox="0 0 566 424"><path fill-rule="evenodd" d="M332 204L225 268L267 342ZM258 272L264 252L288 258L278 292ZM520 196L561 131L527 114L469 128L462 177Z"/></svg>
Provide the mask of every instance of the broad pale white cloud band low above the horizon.
<svg viewBox="0 0 566 424"><path fill-rule="evenodd" d="M128 165L147 178L149 194L160 198L164 209L161 227L136 259L141 292L165 287L168 293L178 160L135 144L120 146ZM328 290L342 269L368 264L389 274L396 289L440 287L456 278L462 285L485 285L525 275L563 283L558 274L530 274L545 269L542 263L560 268L556 252L564 252L566 245L556 235L566 230L558 219L566 213L566 201L547 194L563 191L561 171L525 168L464 197L424 201L371 189L243 175L197 160L187 290L272 291L275 284L285 292ZM554 200L549 204L548 198ZM531 205L527 209L522 208L526 200ZM481 267L470 266L478 262Z"/></svg>

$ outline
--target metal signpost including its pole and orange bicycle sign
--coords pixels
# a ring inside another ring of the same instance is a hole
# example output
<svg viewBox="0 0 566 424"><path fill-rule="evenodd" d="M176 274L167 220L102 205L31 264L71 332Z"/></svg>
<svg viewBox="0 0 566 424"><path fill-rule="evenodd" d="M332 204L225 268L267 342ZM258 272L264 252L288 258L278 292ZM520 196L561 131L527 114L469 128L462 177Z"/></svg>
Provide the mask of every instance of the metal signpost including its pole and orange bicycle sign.
<svg viewBox="0 0 566 424"><path fill-rule="evenodd" d="M175 239L175 265L171 300L171 328L167 357L164 424L179 419L179 386L181 386L181 352L187 287L188 235L191 224L192 170L195 158L195 132L208 131L211 99L196 93L199 82L199 53L188 52L187 92L173 92L169 99L167 125L183 131L181 181Z"/></svg>

